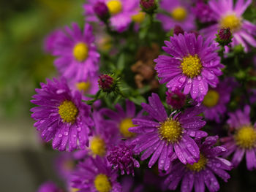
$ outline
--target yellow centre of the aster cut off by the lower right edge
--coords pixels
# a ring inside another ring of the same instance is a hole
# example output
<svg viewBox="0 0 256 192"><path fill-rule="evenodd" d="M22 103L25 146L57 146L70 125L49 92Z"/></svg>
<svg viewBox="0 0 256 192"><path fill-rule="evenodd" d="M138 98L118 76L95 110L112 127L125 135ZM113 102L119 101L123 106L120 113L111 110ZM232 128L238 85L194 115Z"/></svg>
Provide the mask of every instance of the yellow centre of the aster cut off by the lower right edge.
<svg viewBox="0 0 256 192"><path fill-rule="evenodd" d="M250 149L256 147L256 131L252 126L244 126L235 134L236 145Z"/></svg>

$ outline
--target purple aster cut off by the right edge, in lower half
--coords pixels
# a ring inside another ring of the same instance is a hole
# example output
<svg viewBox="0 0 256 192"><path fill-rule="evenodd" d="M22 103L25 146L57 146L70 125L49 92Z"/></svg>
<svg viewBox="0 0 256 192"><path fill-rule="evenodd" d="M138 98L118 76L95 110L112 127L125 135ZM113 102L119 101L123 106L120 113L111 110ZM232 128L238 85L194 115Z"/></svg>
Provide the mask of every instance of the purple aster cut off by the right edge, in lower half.
<svg viewBox="0 0 256 192"><path fill-rule="evenodd" d="M248 105L244 107L244 112L237 110L229 113L227 124L230 128L234 128L235 133L222 138L221 142L224 142L228 150L224 156L234 153L232 158L234 166L240 164L245 154L247 169L252 170L256 169L256 124L252 126L249 113Z"/></svg>

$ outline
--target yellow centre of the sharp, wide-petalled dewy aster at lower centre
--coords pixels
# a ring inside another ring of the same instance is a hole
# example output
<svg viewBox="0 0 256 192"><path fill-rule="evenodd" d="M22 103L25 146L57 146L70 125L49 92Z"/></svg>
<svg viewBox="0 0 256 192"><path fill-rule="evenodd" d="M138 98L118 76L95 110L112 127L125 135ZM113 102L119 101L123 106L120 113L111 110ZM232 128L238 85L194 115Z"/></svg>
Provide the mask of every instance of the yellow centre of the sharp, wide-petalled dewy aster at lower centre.
<svg viewBox="0 0 256 192"><path fill-rule="evenodd" d="M181 124L173 119L167 119L164 123L160 123L158 131L161 139L165 139L171 143L178 142L183 134Z"/></svg>

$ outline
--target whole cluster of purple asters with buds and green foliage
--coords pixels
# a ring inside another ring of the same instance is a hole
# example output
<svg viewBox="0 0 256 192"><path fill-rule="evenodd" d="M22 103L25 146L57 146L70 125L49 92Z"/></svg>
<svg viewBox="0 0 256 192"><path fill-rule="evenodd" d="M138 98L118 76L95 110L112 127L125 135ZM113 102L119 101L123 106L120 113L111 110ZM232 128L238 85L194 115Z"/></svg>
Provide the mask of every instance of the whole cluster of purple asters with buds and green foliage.
<svg viewBox="0 0 256 192"><path fill-rule="evenodd" d="M83 28L50 33L59 77L31 117L67 191L215 192L244 154L256 169L251 3L88 0Z"/></svg>

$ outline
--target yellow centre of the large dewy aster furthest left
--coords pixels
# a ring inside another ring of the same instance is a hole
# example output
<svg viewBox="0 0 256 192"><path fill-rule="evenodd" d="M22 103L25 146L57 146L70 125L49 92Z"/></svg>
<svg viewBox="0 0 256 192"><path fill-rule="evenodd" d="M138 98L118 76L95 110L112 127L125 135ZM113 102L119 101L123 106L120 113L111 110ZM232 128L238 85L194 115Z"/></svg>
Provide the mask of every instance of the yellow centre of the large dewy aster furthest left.
<svg viewBox="0 0 256 192"><path fill-rule="evenodd" d="M64 122L73 123L78 115L78 108L72 101L66 100L59 106L59 115Z"/></svg>

